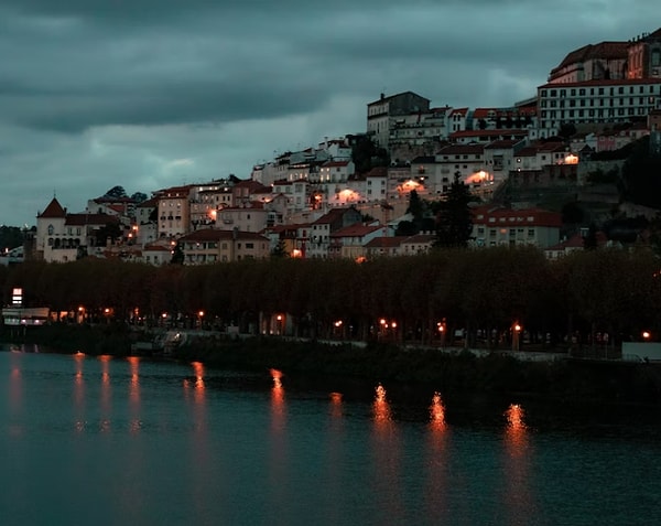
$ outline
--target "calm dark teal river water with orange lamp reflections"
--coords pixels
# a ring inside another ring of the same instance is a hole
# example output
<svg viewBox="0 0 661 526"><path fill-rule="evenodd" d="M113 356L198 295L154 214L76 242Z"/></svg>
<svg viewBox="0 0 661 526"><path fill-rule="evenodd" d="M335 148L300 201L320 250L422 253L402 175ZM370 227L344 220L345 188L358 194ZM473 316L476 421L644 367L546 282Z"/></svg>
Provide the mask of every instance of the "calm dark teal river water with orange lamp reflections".
<svg viewBox="0 0 661 526"><path fill-rule="evenodd" d="M2 348L1 525L661 524L653 414Z"/></svg>

